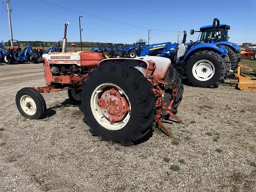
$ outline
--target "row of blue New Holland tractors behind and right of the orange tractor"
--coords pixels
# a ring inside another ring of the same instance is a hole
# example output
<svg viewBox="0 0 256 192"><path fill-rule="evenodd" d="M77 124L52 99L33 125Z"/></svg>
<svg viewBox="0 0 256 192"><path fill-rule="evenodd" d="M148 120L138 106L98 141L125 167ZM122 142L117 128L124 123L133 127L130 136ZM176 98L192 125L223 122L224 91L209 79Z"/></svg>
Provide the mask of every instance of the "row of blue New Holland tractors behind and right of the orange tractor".
<svg viewBox="0 0 256 192"><path fill-rule="evenodd" d="M238 44L229 42L230 26L220 24L215 18L212 25L202 26L200 30L190 30L190 34L199 32L197 41L186 43L184 31L182 44L161 42L146 44L137 42L124 48L124 44L102 43L92 48L95 52L104 52L109 57L135 58L137 56L161 56L169 58L182 77L186 77L193 86L215 87L236 70L241 61Z"/></svg>

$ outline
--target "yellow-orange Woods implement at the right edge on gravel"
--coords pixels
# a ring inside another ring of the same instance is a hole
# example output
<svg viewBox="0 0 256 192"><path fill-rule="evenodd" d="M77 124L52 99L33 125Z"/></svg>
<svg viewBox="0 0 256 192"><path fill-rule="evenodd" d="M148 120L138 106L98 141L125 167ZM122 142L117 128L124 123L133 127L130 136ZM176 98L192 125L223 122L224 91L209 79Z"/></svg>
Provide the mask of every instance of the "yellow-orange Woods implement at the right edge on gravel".
<svg viewBox="0 0 256 192"><path fill-rule="evenodd" d="M241 72L241 68L245 68L245 69L251 70L254 73ZM249 77L247 75L252 75L254 77L251 78L251 77ZM256 69L252 69L250 67L244 66L241 63L239 63L238 69L237 69L237 72L236 72L236 77L237 77L237 80L238 80L237 87L240 90L243 90L243 91L256 91Z"/></svg>

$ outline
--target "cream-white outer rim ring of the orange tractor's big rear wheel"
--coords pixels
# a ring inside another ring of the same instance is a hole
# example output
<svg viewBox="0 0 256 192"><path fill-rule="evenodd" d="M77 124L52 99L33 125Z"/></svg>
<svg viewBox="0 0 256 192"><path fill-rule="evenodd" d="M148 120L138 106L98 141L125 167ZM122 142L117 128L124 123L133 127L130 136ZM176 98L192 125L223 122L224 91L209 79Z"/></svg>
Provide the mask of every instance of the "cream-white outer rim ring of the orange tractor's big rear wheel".
<svg viewBox="0 0 256 192"><path fill-rule="evenodd" d="M110 124L109 120L103 115L100 106L97 103L97 100L101 97L102 93L108 88L108 87L115 87L121 95L124 95L126 97L126 100L128 101L130 111L126 114L125 118L122 121L114 122L114 124ZM92 92L92 96L90 99L90 106L92 110L92 114L96 121L104 128L108 130L120 130L126 126L130 119L130 112L131 112L131 103L126 95L126 93L116 84L112 83L103 83L97 86L94 91Z"/></svg>

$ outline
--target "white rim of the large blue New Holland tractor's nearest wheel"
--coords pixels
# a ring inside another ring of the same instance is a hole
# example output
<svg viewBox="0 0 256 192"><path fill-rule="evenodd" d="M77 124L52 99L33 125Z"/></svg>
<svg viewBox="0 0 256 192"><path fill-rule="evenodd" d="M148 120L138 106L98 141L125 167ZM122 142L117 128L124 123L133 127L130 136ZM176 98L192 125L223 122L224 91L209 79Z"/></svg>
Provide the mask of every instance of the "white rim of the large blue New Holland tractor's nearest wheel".
<svg viewBox="0 0 256 192"><path fill-rule="evenodd" d="M200 60L192 68L194 78L199 81L210 80L214 76L215 68L209 60Z"/></svg>

